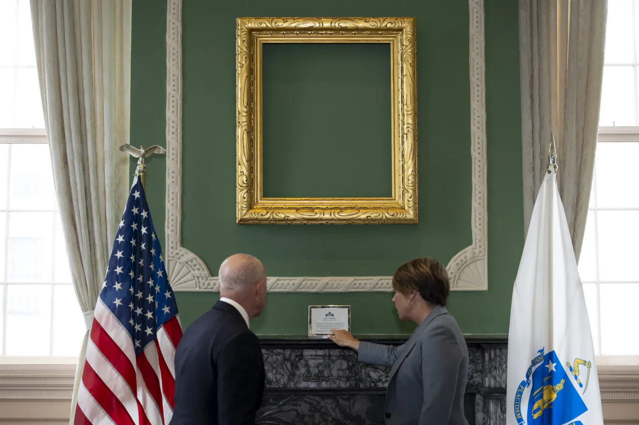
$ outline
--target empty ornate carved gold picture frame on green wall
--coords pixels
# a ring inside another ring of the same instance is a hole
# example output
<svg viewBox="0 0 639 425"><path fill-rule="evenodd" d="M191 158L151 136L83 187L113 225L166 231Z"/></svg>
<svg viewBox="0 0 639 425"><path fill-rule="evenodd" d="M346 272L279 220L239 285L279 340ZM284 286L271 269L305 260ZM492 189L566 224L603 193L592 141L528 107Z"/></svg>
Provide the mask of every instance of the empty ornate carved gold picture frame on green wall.
<svg viewBox="0 0 639 425"><path fill-rule="evenodd" d="M237 223L417 223L415 41L414 18L236 20ZM390 44L392 197L263 197L264 43Z"/></svg>

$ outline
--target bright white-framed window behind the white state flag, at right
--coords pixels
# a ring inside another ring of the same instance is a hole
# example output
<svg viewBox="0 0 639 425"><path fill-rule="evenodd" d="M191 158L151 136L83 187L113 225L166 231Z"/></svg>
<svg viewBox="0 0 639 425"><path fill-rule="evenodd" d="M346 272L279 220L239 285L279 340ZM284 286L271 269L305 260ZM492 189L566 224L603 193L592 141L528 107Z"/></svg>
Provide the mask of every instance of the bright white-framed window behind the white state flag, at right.
<svg viewBox="0 0 639 425"><path fill-rule="evenodd" d="M595 352L639 362L639 2L608 2L595 170L579 272Z"/></svg>

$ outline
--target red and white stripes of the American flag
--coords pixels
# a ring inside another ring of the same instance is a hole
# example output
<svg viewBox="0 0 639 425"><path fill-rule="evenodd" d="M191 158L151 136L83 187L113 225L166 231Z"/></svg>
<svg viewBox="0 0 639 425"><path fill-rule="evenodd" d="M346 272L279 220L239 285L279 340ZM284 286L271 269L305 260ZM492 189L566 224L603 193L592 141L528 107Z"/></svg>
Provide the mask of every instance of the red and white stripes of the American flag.
<svg viewBox="0 0 639 425"><path fill-rule="evenodd" d="M133 341L98 299L75 408L76 425L167 425L173 416L178 316L135 357Z"/></svg>

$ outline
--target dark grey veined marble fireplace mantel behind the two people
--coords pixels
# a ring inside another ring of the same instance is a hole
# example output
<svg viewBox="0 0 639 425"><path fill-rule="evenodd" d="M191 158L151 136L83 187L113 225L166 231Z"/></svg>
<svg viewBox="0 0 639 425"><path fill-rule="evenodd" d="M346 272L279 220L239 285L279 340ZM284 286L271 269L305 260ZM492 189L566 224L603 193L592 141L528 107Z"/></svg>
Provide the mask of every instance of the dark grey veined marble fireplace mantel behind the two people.
<svg viewBox="0 0 639 425"><path fill-rule="evenodd" d="M406 338L364 339L400 345ZM259 424L383 424L389 369L326 339L262 339L266 388ZM505 423L507 340L466 338L470 425Z"/></svg>

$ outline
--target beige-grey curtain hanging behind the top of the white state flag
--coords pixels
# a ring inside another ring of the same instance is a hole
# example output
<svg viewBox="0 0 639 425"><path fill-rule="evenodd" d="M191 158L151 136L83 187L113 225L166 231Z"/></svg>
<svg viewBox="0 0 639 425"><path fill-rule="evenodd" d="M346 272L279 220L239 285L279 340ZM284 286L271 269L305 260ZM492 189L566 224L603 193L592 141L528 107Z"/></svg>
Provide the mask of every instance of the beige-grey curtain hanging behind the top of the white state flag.
<svg viewBox="0 0 639 425"><path fill-rule="evenodd" d="M578 259L588 214L603 78L606 0L519 0L525 230L557 143L557 180Z"/></svg>

